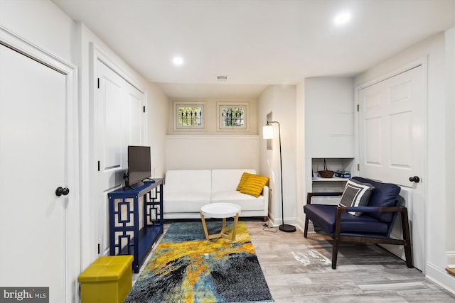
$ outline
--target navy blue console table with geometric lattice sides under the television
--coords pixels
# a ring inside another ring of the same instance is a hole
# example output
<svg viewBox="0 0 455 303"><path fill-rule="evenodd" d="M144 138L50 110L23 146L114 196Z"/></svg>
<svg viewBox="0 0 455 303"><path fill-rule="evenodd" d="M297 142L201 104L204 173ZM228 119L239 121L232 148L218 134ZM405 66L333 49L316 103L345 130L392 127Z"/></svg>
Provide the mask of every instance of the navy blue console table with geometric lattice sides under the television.
<svg viewBox="0 0 455 303"><path fill-rule="evenodd" d="M133 255L139 267L163 233L163 180L135 189L117 189L109 197L109 255Z"/></svg>

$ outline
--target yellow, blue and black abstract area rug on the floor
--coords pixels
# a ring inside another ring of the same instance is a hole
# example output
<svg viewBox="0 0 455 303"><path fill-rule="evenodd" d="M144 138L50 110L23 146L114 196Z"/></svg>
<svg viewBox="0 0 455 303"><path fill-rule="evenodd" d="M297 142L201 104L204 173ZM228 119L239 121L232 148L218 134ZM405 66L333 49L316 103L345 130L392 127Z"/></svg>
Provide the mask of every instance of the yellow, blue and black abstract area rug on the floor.
<svg viewBox="0 0 455 303"><path fill-rule="evenodd" d="M219 233L221 221L207 221ZM230 233L232 222L228 221ZM202 223L172 223L125 302L272 302L242 221L237 238L205 240Z"/></svg>

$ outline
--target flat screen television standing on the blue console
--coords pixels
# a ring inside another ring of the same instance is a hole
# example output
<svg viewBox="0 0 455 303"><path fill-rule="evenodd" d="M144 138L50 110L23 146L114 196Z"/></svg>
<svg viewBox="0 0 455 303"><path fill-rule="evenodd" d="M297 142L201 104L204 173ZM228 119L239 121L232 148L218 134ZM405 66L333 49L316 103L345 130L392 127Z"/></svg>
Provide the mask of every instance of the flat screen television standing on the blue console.
<svg viewBox="0 0 455 303"><path fill-rule="evenodd" d="M128 146L128 174L125 186L132 187L151 177L150 146Z"/></svg>

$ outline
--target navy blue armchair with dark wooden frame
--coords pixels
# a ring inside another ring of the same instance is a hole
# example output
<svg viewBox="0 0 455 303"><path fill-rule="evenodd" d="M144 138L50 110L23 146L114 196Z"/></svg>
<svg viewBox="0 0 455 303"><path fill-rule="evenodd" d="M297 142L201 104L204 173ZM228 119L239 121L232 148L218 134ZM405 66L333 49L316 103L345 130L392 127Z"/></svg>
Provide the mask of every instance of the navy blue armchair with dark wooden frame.
<svg viewBox="0 0 455 303"><path fill-rule="evenodd" d="M406 265L412 268L410 226L407 209L402 206L403 199L398 195L400 187L362 177L353 177L352 180L371 184L374 187L370 192L367 206L311 204L311 197L341 196L343 192L309 192L304 206L306 214L304 237L308 236L308 225L311 220L314 226L333 238L333 269L336 269L338 247L341 241L402 245L405 248ZM402 223L402 239L390 238L395 217L398 214Z"/></svg>

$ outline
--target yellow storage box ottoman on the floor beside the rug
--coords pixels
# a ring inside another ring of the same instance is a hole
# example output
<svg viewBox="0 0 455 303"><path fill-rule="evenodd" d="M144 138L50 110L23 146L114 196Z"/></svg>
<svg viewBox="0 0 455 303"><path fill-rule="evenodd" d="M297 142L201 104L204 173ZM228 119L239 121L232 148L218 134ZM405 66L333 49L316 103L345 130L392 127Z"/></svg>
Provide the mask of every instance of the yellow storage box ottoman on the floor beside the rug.
<svg viewBox="0 0 455 303"><path fill-rule="evenodd" d="M100 257L77 278L81 303L122 303L132 287L132 255Z"/></svg>

